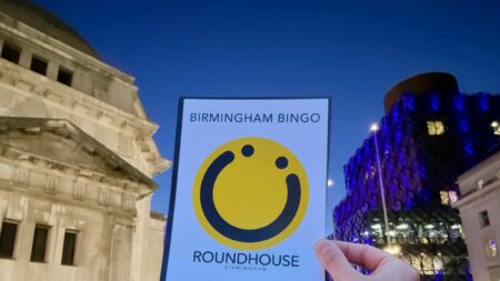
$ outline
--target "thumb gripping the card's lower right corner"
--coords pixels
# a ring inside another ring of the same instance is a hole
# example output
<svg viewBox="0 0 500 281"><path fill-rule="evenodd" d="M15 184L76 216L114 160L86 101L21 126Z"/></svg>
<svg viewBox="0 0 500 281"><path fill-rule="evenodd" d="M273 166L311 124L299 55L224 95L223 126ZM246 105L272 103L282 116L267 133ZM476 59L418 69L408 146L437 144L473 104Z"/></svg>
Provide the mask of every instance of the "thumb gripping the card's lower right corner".
<svg viewBox="0 0 500 281"><path fill-rule="evenodd" d="M359 280L363 275L356 271L343 252L333 241L321 239L316 244L316 253L333 280Z"/></svg>

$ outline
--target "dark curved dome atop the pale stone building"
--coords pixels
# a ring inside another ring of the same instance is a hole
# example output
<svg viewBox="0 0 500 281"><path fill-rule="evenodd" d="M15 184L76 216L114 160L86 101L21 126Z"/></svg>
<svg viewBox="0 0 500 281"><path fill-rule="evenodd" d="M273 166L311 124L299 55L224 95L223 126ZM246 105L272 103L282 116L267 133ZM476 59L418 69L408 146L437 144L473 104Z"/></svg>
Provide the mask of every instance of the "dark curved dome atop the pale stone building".
<svg viewBox="0 0 500 281"><path fill-rule="evenodd" d="M90 47L90 44L71 27L52 13L27 0L0 0L0 12L81 52L99 59L98 53L92 47Z"/></svg>

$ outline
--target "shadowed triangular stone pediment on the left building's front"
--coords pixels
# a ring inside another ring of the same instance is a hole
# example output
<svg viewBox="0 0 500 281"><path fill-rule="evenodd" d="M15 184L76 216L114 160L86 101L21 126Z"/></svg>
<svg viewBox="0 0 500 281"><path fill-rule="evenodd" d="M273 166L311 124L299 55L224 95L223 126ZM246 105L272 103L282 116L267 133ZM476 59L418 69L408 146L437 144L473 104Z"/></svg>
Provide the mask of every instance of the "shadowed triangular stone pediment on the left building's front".
<svg viewBox="0 0 500 281"><path fill-rule="evenodd" d="M61 119L0 117L0 153L7 149L36 155L83 172L157 184L99 141Z"/></svg>

